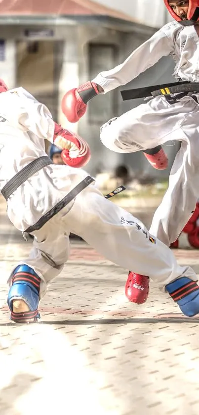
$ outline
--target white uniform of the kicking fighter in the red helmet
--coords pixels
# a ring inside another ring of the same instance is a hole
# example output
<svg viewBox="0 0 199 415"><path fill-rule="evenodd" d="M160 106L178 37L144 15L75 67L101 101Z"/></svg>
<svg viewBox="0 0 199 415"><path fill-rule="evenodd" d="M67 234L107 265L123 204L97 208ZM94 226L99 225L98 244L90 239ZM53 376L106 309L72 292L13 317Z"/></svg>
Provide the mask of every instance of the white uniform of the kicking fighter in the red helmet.
<svg viewBox="0 0 199 415"><path fill-rule="evenodd" d="M194 26L166 24L116 68L101 72L93 82L109 92L125 85L170 55L177 80L199 82L199 36ZM173 96L173 95L172 95ZM176 94L175 94L176 98ZM174 242L195 210L199 195L199 94L174 103L163 95L148 100L101 127L100 138L110 150L130 153L182 141L150 232L166 245Z"/></svg>

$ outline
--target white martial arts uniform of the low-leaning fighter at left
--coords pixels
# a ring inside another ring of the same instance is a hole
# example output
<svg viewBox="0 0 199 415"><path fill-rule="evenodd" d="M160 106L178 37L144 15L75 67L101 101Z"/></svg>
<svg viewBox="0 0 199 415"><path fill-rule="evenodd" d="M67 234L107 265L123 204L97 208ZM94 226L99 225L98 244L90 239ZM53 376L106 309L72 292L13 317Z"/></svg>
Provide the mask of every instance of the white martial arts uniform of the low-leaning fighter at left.
<svg viewBox="0 0 199 415"><path fill-rule="evenodd" d="M46 155L44 138L53 140L48 109L23 88L16 92L0 94L0 188L33 159ZM84 170L68 166L44 167L8 198L9 219L18 230L25 231L86 176ZM119 266L149 275L159 287L182 276L197 280L194 271L180 267L172 251L151 237L140 221L90 184L75 201L33 232L30 256L21 263L40 276L41 296L68 259L70 232Z"/></svg>

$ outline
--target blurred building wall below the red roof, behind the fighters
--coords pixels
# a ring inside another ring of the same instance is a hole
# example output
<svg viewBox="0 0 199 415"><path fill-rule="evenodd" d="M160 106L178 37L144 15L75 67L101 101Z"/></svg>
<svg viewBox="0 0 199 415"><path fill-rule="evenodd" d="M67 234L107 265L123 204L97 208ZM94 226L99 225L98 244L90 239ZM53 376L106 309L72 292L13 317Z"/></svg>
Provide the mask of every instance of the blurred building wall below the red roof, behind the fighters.
<svg viewBox="0 0 199 415"><path fill-rule="evenodd" d="M101 94L89 102L85 116L76 124L70 124L61 111L61 99L66 91L92 79L99 71L121 63L156 30L140 26L139 31L132 28L130 33L93 22L54 26L1 25L0 77L10 89L27 88L49 107L55 121L88 141L93 154L87 165L89 173L95 175L100 170L110 171L118 164L127 163L138 175L144 171L167 178L169 170L156 171L141 152L115 153L106 149L99 139L99 129L104 122L142 100L122 102L120 89ZM127 87L172 82L172 71L173 62L163 58ZM165 148L171 164L177 146Z"/></svg>

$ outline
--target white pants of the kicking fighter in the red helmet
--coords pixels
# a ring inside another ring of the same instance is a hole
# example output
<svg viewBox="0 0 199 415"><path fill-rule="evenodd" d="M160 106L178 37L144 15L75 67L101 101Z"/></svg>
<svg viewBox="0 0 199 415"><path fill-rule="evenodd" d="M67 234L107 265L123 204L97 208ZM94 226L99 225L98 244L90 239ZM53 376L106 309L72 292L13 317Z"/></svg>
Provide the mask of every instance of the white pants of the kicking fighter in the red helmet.
<svg viewBox="0 0 199 415"><path fill-rule="evenodd" d="M168 140L182 141L168 189L150 228L153 235L170 246L192 216L199 197L198 102L185 96L171 103L158 96L104 124L100 138L110 150L121 153L153 148Z"/></svg>

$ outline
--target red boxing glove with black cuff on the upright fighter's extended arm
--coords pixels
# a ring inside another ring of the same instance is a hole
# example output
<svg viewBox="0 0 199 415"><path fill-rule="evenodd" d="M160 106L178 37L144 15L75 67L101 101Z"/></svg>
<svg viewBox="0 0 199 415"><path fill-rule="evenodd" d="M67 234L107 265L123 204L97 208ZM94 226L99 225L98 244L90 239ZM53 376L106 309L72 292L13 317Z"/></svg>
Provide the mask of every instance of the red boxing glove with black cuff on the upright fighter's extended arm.
<svg viewBox="0 0 199 415"><path fill-rule="evenodd" d="M94 82L86 82L78 88L65 93L62 98L62 111L70 123L76 123L85 114L89 99L98 95L99 91Z"/></svg>

